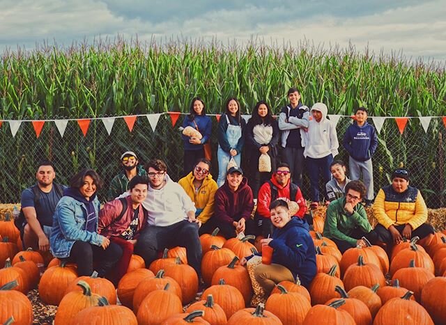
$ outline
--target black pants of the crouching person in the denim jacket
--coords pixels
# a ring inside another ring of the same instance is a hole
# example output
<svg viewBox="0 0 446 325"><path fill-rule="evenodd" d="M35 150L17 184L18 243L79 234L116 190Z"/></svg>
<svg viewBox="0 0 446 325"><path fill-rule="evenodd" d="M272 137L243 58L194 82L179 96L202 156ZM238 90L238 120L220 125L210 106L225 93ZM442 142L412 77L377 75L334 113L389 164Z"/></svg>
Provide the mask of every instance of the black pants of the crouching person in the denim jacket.
<svg viewBox="0 0 446 325"><path fill-rule="evenodd" d="M75 241L70 251L70 256L65 260L77 264L78 276L91 276L93 273L93 263L97 266L95 270L100 277L104 277L123 255L122 248L110 242L109 246L103 249L86 241Z"/></svg>

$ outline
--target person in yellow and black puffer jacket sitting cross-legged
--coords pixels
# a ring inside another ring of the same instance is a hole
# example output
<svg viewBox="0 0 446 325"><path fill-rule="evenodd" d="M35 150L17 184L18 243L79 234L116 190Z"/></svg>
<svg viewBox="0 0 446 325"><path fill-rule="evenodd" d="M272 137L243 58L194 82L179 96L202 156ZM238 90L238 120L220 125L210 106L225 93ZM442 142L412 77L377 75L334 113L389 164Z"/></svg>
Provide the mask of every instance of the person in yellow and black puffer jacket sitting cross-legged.
<svg viewBox="0 0 446 325"><path fill-rule="evenodd" d="M397 169L392 184L379 190L373 206L378 221L375 231L381 241L392 246L418 236L418 244L427 246L434 230L427 221L427 207L420 191L409 186L409 172Z"/></svg>

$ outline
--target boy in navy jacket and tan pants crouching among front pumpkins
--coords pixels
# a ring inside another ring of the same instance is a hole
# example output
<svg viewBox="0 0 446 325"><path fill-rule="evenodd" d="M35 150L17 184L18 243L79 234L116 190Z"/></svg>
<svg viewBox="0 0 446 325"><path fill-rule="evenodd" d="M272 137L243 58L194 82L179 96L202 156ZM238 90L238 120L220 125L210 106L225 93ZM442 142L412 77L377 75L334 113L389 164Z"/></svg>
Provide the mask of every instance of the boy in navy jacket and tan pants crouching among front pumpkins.
<svg viewBox="0 0 446 325"><path fill-rule="evenodd" d="M272 238L261 239L262 246L274 248L272 263L259 264L254 276L268 296L275 285L282 281L295 281L308 287L316 276L316 253L308 224L291 217L288 203L275 200L270 205L271 221L275 226ZM245 257L240 264L245 264Z"/></svg>

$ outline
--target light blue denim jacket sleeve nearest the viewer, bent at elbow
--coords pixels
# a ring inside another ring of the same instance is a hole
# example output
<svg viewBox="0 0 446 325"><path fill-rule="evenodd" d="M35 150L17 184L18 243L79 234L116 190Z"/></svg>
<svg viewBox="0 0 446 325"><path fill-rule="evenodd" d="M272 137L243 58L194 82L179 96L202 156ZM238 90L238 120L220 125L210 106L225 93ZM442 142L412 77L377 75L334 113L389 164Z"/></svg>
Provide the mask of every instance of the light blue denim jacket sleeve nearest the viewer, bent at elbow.
<svg viewBox="0 0 446 325"><path fill-rule="evenodd" d="M60 203L60 201L59 201ZM100 246L102 236L98 232L89 232L78 229L75 221L75 206L72 203L62 202L56 206L54 216L59 221L59 226L63 236L72 241L86 241L93 245Z"/></svg>

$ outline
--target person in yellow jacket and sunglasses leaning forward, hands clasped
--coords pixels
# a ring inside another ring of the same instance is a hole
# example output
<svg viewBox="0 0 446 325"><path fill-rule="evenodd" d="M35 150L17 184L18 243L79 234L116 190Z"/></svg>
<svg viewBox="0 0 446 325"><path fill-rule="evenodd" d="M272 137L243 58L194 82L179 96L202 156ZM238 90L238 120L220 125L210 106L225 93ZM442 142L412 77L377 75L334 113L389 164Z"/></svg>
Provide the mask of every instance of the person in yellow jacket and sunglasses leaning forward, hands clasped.
<svg viewBox="0 0 446 325"><path fill-rule="evenodd" d="M209 171L210 161L199 159L192 171L178 181L197 208L195 216L201 223L199 235L214 230L208 221L214 214L214 196L218 185Z"/></svg>

